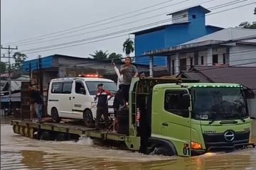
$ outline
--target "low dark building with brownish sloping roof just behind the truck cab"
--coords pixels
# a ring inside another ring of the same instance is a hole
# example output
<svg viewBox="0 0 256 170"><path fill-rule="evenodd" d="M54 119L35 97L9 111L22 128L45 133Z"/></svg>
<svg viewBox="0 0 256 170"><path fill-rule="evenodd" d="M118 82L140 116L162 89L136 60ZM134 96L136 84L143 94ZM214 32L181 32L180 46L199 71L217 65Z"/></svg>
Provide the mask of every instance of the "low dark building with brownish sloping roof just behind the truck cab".
<svg viewBox="0 0 256 170"><path fill-rule="evenodd" d="M245 86L250 117L256 118L256 67L195 66L178 74L203 83L235 83Z"/></svg>

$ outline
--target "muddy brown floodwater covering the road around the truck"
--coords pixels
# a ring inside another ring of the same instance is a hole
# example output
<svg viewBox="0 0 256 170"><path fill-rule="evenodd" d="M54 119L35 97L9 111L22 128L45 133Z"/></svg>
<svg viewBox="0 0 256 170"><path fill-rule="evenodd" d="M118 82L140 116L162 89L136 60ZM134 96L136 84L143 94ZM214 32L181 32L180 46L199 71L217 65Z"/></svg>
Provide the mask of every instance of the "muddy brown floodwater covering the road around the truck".
<svg viewBox="0 0 256 170"><path fill-rule="evenodd" d="M256 131L256 123L253 126ZM1 120L1 170L4 169L249 170L256 169L256 149L190 158L149 156L98 147L89 138L78 142L33 140L14 134L8 121Z"/></svg>

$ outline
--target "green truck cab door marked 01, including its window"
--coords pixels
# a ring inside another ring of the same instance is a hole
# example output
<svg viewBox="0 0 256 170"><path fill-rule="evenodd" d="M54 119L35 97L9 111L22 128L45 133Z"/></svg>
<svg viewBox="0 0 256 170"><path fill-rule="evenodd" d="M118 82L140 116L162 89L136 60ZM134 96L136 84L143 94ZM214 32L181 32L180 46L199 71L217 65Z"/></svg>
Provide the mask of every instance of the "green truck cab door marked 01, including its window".
<svg viewBox="0 0 256 170"><path fill-rule="evenodd" d="M176 147L178 155L191 156L191 118L183 95L187 89L165 89L162 96L161 133Z"/></svg>

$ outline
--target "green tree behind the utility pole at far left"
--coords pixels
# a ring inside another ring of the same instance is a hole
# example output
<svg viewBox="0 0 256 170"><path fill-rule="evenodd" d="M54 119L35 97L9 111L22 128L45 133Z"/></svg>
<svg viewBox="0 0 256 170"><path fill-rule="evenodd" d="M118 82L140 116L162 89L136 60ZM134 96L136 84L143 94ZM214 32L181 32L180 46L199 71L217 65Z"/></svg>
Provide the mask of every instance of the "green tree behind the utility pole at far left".
<svg viewBox="0 0 256 170"><path fill-rule="evenodd" d="M14 64L11 65L11 72L13 72L14 75L20 75L23 73L22 66L27 56L21 52L15 52L13 57Z"/></svg>

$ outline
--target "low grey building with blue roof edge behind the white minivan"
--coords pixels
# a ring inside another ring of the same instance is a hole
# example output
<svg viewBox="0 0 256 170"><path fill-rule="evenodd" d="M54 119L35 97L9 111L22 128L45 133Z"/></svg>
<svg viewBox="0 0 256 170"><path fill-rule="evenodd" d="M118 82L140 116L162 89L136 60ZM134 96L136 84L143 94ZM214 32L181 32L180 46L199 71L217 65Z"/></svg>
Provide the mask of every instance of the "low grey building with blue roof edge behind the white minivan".
<svg viewBox="0 0 256 170"><path fill-rule="evenodd" d="M73 57L68 55L50 55L40 60L28 60L23 63L23 72L31 74L31 84L39 85L43 82L43 89L48 89L50 79L60 77L78 77L79 74L100 74L107 79L117 80L110 60L94 60L85 57ZM119 67L122 63L116 63ZM40 69L41 68L41 69ZM139 72L148 72L148 67L137 64ZM42 74L40 77L39 74Z"/></svg>

